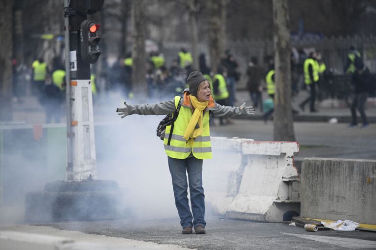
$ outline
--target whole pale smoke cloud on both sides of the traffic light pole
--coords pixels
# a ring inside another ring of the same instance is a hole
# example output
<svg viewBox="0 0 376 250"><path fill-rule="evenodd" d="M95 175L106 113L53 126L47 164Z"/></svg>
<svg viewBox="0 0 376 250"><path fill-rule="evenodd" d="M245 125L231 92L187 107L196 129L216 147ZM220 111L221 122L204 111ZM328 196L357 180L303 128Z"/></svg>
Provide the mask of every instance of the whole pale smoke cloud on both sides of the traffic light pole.
<svg viewBox="0 0 376 250"><path fill-rule="evenodd" d="M150 104L172 99L173 95L158 99L129 99L120 92L107 92L94 97L97 177L118 183L123 192L118 210L126 210L125 216L178 220L167 156L163 142L156 136L156 128L164 116L131 115L121 119L116 112L124 101L129 104ZM23 125L19 129L0 128L0 139L4 142L0 165L0 184L3 187L0 222L23 221L27 192L41 192L47 183L66 179L64 116L61 121L61 124L44 124L42 127ZM215 166L215 169L217 167L221 166ZM204 188L216 190L216 186L210 183L211 178L204 178Z"/></svg>

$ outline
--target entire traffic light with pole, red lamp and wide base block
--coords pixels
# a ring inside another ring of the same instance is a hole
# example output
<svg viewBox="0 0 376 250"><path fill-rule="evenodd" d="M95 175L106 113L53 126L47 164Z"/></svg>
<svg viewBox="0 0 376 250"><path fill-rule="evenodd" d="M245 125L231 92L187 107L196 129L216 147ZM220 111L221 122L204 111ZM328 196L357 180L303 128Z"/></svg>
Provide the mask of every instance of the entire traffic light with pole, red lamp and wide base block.
<svg viewBox="0 0 376 250"><path fill-rule="evenodd" d="M86 13L99 11L103 0L65 0L64 4L67 179L47 183L42 192L26 193L25 221L115 219L126 211L118 183L97 180L96 173L90 63L100 55L100 25L86 20Z"/></svg>

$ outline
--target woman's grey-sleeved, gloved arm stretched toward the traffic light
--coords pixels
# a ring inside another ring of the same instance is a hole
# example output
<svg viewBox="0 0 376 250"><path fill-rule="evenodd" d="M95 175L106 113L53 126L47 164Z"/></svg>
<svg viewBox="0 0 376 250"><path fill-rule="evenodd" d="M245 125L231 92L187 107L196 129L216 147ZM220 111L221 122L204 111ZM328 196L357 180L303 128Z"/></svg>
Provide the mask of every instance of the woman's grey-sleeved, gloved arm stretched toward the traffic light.
<svg viewBox="0 0 376 250"><path fill-rule="evenodd" d="M129 105L124 103L124 107L117 108L116 112L121 118L128 115L138 114L138 115L168 115L175 112L175 101L166 101L158 104L137 104Z"/></svg>

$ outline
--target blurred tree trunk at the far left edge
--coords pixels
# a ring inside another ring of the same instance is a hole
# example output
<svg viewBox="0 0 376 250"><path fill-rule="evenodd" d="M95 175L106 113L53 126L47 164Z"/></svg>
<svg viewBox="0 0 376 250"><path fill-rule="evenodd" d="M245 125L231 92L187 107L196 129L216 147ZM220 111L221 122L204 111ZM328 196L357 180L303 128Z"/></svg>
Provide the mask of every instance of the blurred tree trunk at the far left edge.
<svg viewBox="0 0 376 250"><path fill-rule="evenodd" d="M0 121L12 120L12 2L3 0L0 4Z"/></svg>

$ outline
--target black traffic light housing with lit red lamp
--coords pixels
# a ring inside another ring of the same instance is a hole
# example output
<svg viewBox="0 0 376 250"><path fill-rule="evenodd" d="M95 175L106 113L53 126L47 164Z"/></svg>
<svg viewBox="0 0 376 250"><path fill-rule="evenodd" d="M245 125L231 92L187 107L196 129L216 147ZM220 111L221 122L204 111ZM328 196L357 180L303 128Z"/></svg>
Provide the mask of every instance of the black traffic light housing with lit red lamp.
<svg viewBox="0 0 376 250"><path fill-rule="evenodd" d="M99 27L93 20L85 20L81 23L81 58L84 62L94 63L98 60L99 50Z"/></svg>

